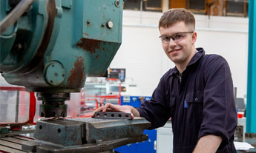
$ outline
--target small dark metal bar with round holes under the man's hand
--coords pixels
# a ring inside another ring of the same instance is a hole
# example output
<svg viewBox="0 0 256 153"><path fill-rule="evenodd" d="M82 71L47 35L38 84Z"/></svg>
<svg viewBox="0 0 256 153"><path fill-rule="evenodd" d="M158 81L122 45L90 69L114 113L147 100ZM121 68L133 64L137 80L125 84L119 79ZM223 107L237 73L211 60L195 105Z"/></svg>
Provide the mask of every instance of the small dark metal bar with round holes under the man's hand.
<svg viewBox="0 0 256 153"><path fill-rule="evenodd" d="M125 112L95 112L95 117L94 118L129 119L129 120L131 120L131 113L125 113Z"/></svg>

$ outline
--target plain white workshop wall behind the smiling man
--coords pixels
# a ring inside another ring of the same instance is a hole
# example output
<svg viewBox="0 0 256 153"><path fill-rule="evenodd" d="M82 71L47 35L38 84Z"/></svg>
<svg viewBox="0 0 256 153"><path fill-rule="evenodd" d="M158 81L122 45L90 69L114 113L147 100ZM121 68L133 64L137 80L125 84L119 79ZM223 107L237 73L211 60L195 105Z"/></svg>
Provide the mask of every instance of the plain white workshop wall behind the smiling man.
<svg viewBox="0 0 256 153"><path fill-rule="evenodd" d="M166 57L159 38L162 13L124 10L122 45L111 68L126 68L126 78L137 84L134 95L151 96L161 76L174 64ZM248 18L196 15L196 47L222 55L232 70L237 97L246 95Z"/></svg>

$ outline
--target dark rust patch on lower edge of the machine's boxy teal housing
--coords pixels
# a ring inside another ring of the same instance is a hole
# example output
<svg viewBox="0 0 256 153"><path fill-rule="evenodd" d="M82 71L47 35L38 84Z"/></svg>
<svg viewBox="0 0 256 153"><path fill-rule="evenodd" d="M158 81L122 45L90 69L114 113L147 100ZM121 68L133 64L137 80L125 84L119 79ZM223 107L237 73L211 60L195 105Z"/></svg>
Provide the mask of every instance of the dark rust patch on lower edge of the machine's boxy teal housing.
<svg viewBox="0 0 256 153"><path fill-rule="evenodd" d="M81 38L80 41L76 43L76 46L82 48L85 51L91 52L91 55L95 53L95 50L100 49L100 44L102 41L88 39L88 38Z"/></svg>

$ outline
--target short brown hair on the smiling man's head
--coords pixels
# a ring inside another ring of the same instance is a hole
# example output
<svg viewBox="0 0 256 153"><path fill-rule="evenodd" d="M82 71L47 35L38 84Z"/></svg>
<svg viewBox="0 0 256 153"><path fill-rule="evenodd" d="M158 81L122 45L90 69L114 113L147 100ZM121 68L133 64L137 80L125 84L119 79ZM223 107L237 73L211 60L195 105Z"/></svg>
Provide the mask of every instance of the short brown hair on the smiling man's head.
<svg viewBox="0 0 256 153"><path fill-rule="evenodd" d="M191 26L194 31L195 28L195 19L194 14L191 11L183 8L170 9L163 13L163 16L160 18L158 27L170 27L174 24L177 24L179 21L184 21L187 26Z"/></svg>

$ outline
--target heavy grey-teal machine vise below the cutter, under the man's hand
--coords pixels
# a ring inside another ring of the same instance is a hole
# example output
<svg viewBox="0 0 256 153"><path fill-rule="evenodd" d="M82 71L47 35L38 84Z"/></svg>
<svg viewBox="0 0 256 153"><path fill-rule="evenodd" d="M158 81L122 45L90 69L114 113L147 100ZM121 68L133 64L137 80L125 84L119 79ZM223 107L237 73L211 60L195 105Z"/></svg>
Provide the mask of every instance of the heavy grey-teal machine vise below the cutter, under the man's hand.
<svg viewBox="0 0 256 153"><path fill-rule="evenodd" d="M39 120L35 140L22 144L22 149L26 152L109 152L128 143L147 140L143 130L149 126L151 123L145 118Z"/></svg>

